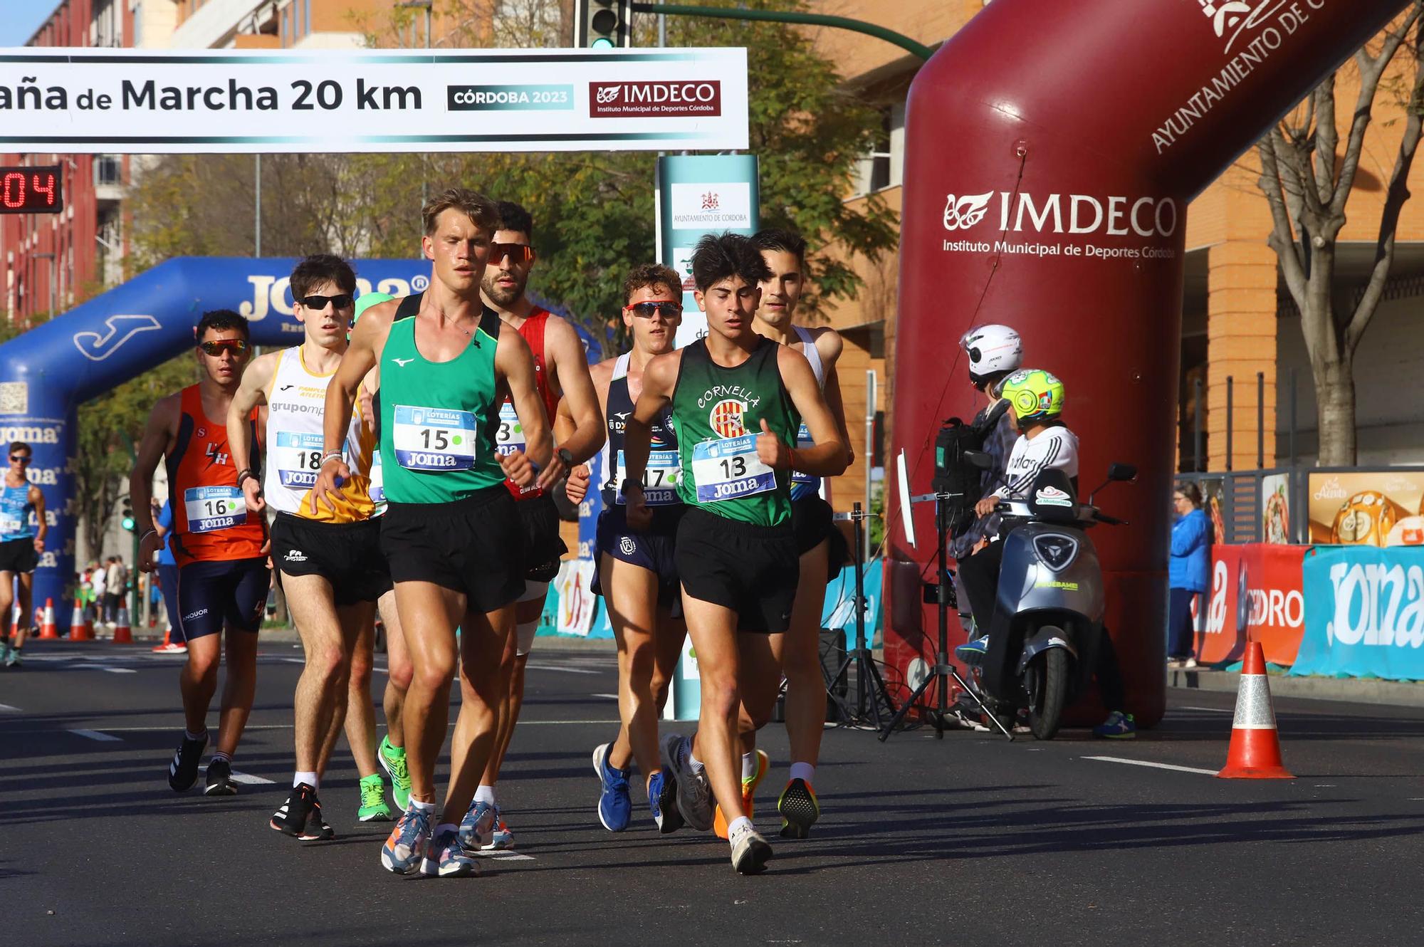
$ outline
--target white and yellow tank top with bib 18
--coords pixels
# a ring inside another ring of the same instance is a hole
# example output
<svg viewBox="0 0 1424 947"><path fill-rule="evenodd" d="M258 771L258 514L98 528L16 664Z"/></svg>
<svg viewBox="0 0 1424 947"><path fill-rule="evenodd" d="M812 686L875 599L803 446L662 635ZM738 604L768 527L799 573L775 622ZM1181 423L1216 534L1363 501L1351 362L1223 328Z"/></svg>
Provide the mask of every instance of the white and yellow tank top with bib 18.
<svg viewBox="0 0 1424 947"><path fill-rule="evenodd" d="M333 373L335 375L335 373ZM342 484L335 510L322 501L312 514L309 494L322 467L322 419L332 375L313 375L302 359L302 346L282 350L272 387L268 389L268 457L262 493L278 513L318 523L356 523L372 516L370 467L376 433L362 417L360 399L342 446L352 478Z"/></svg>

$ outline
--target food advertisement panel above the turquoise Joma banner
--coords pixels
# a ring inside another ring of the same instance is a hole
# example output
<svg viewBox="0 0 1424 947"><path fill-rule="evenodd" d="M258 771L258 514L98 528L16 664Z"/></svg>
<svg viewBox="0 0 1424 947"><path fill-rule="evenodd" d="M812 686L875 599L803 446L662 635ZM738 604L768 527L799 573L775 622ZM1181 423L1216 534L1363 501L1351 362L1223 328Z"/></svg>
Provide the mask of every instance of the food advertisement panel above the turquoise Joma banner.
<svg viewBox="0 0 1424 947"><path fill-rule="evenodd" d="M1306 477L1310 541L1424 545L1424 469L1314 470Z"/></svg>

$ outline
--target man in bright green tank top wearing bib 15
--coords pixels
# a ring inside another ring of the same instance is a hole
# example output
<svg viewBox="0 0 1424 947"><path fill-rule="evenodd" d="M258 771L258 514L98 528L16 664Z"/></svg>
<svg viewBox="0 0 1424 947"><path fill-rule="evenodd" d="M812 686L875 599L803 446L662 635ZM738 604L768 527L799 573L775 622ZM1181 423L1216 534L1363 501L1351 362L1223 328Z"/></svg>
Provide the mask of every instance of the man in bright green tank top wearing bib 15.
<svg viewBox="0 0 1424 947"><path fill-rule="evenodd" d="M350 476L340 444L362 379L376 369L387 501L380 545L414 665L402 712L410 805L382 847L382 864L403 874L419 867L457 876L477 873L457 826L493 749L500 655L524 588L523 530L504 477L548 486L537 474L553 440L528 345L480 300L494 204L451 189L426 204L423 216L430 289L372 306L356 323L326 390L325 457L312 491L325 498ZM528 446L501 457L494 433L506 393ZM457 647L460 716L441 813L434 765ZM491 827L476 826L474 834L487 842Z"/></svg>

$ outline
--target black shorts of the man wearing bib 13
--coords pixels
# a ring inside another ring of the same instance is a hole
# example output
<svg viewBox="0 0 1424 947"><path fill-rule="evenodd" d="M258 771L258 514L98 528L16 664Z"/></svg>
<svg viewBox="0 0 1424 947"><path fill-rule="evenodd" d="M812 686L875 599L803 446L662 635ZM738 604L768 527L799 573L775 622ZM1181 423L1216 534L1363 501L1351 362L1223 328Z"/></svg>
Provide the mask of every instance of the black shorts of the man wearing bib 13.
<svg viewBox="0 0 1424 947"><path fill-rule="evenodd" d="M674 560L684 594L731 608L739 631L790 627L800 560L789 523L752 525L693 507L678 524Z"/></svg>

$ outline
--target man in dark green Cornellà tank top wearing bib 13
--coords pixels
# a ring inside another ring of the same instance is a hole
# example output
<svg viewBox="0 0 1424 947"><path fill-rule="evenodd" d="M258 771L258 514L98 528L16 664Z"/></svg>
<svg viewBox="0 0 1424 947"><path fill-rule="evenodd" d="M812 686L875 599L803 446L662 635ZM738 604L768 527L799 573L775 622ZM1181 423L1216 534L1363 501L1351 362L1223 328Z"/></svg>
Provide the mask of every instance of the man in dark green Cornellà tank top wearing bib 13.
<svg viewBox="0 0 1424 947"><path fill-rule="evenodd" d="M675 558L702 678L702 712L695 741L676 733L664 739L662 762L693 829L712 827L715 793L732 864L743 874L760 872L772 856L742 806L738 712L745 705L765 722L780 685L779 635L790 621L799 577L790 473L833 477L847 461L810 363L752 330L768 275L745 236L698 242L692 276L708 335L648 363L624 440L628 525L646 528L642 477L651 424L672 404L678 493L689 507L678 525ZM790 447L802 419L813 444Z"/></svg>

